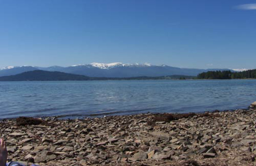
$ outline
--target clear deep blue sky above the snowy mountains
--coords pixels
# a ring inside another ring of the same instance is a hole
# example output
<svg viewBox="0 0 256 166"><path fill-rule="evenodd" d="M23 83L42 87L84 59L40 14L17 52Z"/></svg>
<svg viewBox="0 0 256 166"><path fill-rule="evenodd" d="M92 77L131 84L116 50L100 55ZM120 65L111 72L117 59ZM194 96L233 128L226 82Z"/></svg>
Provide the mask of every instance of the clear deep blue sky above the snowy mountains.
<svg viewBox="0 0 256 166"><path fill-rule="evenodd" d="M256 0L0 0L0 67L256 68Z"/></svg>

